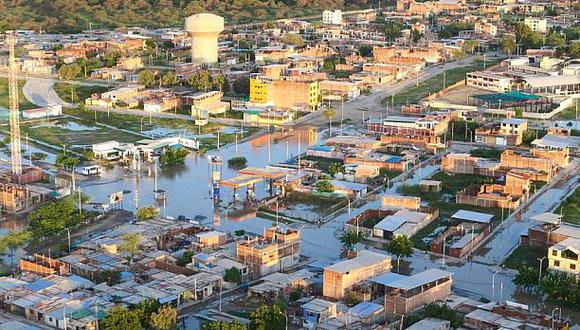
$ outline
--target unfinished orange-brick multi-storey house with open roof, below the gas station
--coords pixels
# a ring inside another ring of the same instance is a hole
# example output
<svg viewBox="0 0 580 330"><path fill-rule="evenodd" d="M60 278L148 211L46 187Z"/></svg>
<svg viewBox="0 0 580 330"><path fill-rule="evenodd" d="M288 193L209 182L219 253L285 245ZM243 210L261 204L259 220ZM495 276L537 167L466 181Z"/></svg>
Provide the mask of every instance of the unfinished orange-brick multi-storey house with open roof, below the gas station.
<svg viewBox="0 0 580 330"><path fill-rule="evenodd" d="M238 242L236 256L248 265L253 278L282 272L300 260L300 231L265 228L263 236Z"/></svg>

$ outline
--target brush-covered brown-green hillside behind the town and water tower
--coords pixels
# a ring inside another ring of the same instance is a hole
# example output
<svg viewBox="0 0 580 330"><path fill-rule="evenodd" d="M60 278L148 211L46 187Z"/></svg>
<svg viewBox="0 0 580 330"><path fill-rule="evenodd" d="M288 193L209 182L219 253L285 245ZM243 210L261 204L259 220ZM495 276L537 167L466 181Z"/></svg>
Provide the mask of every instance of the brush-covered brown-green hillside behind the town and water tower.
<svg viewBox="0 0 580 330"><path fill-rule="evenodd" d="M246 23L319 13L323 9L368 8L377 0L0 0L0 31L34 29L75 32L120 26L181 26L200 12Z"/></svg>

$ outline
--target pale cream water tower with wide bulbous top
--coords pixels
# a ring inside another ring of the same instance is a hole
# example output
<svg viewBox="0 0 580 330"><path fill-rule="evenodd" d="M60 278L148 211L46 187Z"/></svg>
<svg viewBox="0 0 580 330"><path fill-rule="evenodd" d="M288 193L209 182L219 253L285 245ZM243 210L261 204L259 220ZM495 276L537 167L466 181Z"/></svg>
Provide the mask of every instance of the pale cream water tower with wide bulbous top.
<svg viewBox="0 0 580 330"><path fill-rule="evenodd" d="M224 30L224 18L201 13L185 19L185 30L191 34L191 58L193 62L217 63L218 37Z"/></svg>

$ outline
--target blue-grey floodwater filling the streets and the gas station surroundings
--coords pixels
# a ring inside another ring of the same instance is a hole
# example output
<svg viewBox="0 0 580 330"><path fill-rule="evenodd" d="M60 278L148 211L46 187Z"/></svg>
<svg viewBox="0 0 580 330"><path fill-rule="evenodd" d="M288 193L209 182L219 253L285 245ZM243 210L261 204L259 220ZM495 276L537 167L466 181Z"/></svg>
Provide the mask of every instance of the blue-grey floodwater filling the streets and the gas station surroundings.
<svg viewBox="0 0 580 330"><path fill-rule="evenodd" d="M234 156L245 156L248 160L248 166L264 167L269 163L285 161L288 157L304 152L309 146L322 143L324 134L324 132L316 133L313 130L269 133L237 146L231 144L222 147L219 151L213 150L208 155L220 155L224 162L224 165L221 166L222 177L232 178L238 175L238 172L228 168L227 160ZM397 187L401 184L417 184L421 179L431 176L439 169L439 165L427 165L417 170L412 177L407 178L404 182L395 182L387 193L396 193ZM244 229L248 232L261 233L265 227L272 225L272 221L253 215L248 216L247 219L234 220L231 215L235 211L228 206L233 200L233 192L229 188L222 187L222 202L218 206L214 205L210 196L211 170L207 155L202 156L195 153L187 157L184 165L159 169L158 188L167 192L167 200L161 204L154 200L155 180L151 164L142 165L140 177L120 166L104 169L100 179L83 181L81 189L83 193L90 196L92 202L98 203L107 203L108 195L116 191L130 191L125 195L122 205L124 209L135 210L137 207L156 204L161 207L162 214L173 217L185 215L189 218L197 216L198 219L205 219L202 220L202 223L214 225L217 230L226 232ZM243 198L244 191L245 189L242 189L239 192L241 198ZM256 195L263 197L267 194L266 183L259 183ZM560 196L560 194L555 190L552 197L557 199L556 196ZM549 196L546 196L546 199L550 199ZM544 205L544 202L548 203L547 200L542 199L537 203L538 207L534 209L543 209L540 205ZM344 211L327 223L321 225L293 224L292 226L302 229L302 254L323 263L337 261L341 250L338 236L343 231L343 224L368 208L378 207L380 207L380 199L376 195L371 195L366 198L362 206ZM227 214L230 216L228 217ZM508 245L515 244L519 233L526 226L525 223L518 224L505 231L505 234L502 232L494 238L489 243L490 246L494 246L490 252L492 253L490 259L494 259L494 253L505 254L506 251L511 250L511 247L508 248L507 245L504 248L496 249L498 243L494 242L501 242L499 245L506 243L506 241L509 242ZM533 305L538 302L538 298L533 295L516 292L516 287L512 283L514 276L512 271L490 266L485 262L477 260L462 263L449 260L444 262L442 258L436 258L424 252L417 252L404 262L410 263L410 266L407 264L406 267L401 267L402 272L405 273L418 273L426 268L444 267L454 273L454 287L461 294L481 296L490 300L500 300L501 298L503 302L516 300ZM492 282L492 276L496 271L495 281ZM544 306L543 308L549 307ZM574 317L573 313L566 311L563 315Z"/></svg>

